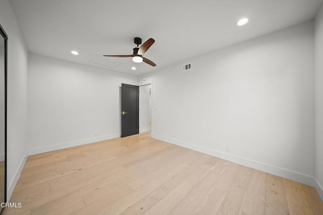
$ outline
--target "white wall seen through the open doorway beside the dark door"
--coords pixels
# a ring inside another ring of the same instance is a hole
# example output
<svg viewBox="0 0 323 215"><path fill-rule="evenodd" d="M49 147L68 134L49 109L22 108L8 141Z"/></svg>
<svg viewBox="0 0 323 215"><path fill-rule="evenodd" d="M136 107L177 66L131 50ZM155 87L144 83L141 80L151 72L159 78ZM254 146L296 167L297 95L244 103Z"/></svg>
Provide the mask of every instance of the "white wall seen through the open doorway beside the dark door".
<svg viewBox="0 0 323 215"><path fill-rule="evenodd" d="M150 89L151 84L139 87L139 133L150 130Z"/></svg>

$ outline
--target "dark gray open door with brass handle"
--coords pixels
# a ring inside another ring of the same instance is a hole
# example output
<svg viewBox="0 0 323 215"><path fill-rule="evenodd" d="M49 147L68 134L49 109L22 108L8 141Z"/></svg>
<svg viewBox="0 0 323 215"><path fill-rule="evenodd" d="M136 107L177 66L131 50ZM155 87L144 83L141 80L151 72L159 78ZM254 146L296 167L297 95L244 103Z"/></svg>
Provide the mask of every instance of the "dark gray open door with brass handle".
<svg viewBox="0 0 323 215"><path fill-rule="evenodd" d="M139 133L139 86L121 85L121 137Z"/></svg>

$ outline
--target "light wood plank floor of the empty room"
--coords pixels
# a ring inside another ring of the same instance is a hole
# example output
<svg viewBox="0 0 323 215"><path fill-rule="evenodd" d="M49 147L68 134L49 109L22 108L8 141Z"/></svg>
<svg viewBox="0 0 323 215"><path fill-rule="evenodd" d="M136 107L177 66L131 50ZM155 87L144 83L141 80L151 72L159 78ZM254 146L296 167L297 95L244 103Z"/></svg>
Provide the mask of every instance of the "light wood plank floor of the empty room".
<svg viewBox="0 0 323 215"><path fill-rule="evenodd" d="M29 156L4 214L323 214L313 187L149 133Z"/></svg>

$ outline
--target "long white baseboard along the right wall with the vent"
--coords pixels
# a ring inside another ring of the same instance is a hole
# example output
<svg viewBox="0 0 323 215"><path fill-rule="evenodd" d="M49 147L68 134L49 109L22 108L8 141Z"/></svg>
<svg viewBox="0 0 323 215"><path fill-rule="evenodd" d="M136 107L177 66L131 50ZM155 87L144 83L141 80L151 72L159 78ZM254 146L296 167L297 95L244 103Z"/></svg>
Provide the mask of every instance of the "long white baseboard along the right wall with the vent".
<svg viewBox="0 0 323 215"><path fill-rule="evenodd" d="M287 170L284 168L280 168L280 167L276 167L270 164L265 164L265 163L261 163L258 161L254 161L248 158L243 158L243 157L239 157L239 156L235 156L235 155L231 155L228 153L224 153L221 151L217 151L217 150L213 150L210 148L206 148L206 147L202 147L202 146L197 146L194 144L191 144L189 142L184 142L181 140L177 140L177 139L172 139L172 138L168 138L165 136L160 136L160 135L156 135L154 133L151 134L152 138L155 139L159 139L159 140L163 140L166 142L170 142L171 144L175 144L187 149L191 149L197 152L201 152L207 155L211 155L217 158L221 158L227 161L231 161L243 166L247 166L256 170L260 170L266 173L270 173L273 175L277 175L280 177L284 177L293 181L297 181L312 187L315 187L317 192L319 193L321 199L323 199L323 189L322 187L319 185L319 183L317 182L317 180L309 175L305 175L302 173L298 173L298 172L294 172L292 170Z"/></svg>

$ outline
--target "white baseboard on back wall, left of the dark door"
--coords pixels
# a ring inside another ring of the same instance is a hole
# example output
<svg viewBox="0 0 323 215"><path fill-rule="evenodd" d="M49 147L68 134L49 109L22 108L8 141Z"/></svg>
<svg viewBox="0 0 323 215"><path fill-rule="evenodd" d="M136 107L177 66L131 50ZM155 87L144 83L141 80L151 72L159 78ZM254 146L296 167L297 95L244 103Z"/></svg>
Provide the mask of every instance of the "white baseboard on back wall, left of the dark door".
<svg viewBox="0 0 323 215"><path fill-rule="evenodd" d="M70 147L91 144L92 142L98 142L98 141L103 141L103 140L107 140L107 139L114 139L117 137L120 137L120 133L109 134L109 135L105 135L105 136L97 136L97 137L87 138L87 139L80 139L80 140L71 141L71 142L64 142L63 144L56 144L56 145L50 145L50 146L45 146L45 147L33 148L33 149L29 149L29 155L35 155L35 154L44 153L44 152L51 152L51 151L55 151L55 150L61 150L61 149L66 149L66 148L70 148Z"/></svg>

